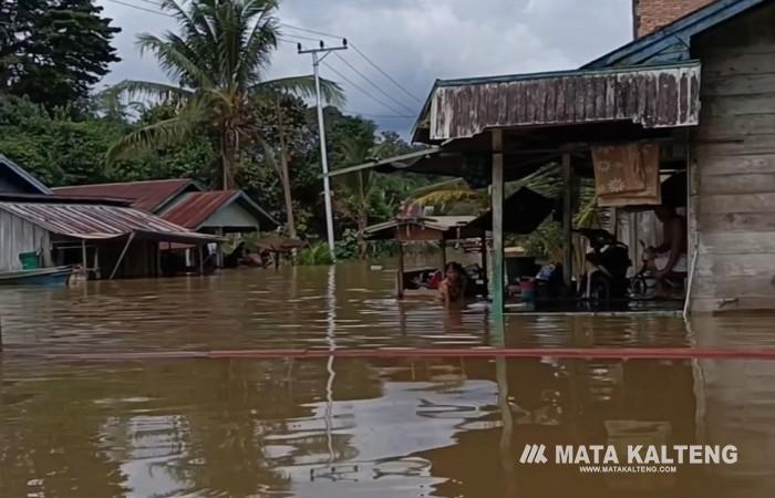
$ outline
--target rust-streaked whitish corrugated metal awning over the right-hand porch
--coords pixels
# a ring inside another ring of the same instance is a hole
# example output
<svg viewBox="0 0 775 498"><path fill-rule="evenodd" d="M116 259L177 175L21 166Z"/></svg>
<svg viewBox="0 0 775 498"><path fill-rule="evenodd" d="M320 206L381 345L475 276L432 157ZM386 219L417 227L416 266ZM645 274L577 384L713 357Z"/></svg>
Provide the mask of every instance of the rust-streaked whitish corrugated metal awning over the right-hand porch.
<svg viewBox="0 0 775 498"><path fill-rule="evenodd" d="M629 122L699 123L700 63L437 81L415 141L467 138L487 128Z"/></svg>

